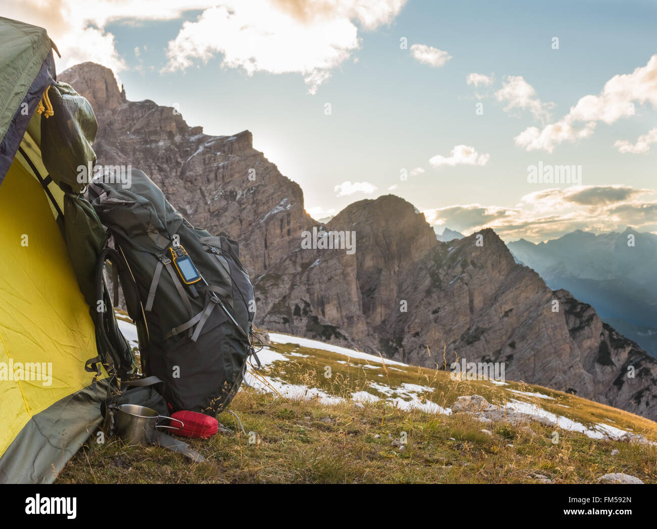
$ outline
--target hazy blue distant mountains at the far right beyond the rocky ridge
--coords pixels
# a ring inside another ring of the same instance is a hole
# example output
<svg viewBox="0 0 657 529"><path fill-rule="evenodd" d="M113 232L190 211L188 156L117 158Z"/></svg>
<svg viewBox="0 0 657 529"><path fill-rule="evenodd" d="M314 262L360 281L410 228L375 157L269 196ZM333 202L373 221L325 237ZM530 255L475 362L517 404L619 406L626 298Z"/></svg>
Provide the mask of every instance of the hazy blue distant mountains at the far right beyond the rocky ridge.
<svg viewBox="0 0 657 529"><path fill-rule="evenodd" d="M657 235L577 230L553 241L509 242L551 288L565 288L657 357Z"/></svg>

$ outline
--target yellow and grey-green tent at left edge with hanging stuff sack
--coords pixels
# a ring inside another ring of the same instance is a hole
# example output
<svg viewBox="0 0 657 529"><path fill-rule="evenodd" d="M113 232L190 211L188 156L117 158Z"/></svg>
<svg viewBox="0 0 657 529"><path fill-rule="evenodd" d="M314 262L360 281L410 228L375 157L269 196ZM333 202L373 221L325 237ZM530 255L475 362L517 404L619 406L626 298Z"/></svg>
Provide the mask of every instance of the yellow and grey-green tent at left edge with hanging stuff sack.
<svg viewBox="0 0 657 529"><path fill-rule="evenodd" d="M74 179L97 124L53 49L0 18L0 483L53 482L116 379L90 310L104 229Z"/></svg>

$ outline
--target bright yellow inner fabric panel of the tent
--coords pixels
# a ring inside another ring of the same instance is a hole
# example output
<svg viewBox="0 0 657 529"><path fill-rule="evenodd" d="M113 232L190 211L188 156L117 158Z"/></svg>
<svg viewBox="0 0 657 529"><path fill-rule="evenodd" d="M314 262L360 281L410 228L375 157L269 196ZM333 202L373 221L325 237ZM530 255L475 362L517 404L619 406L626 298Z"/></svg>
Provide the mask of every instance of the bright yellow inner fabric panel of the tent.
<svg viewBox="0 0 657 529"><path fill-rule="evenodd" d="M89 308L49 201L15 159L0 187L0 225L1 454L31 417L89 386L84 364L97 352ZM14 378L11 363L45 363L46 374L50 363L50 384L43 377L7 380Z"/></svg>

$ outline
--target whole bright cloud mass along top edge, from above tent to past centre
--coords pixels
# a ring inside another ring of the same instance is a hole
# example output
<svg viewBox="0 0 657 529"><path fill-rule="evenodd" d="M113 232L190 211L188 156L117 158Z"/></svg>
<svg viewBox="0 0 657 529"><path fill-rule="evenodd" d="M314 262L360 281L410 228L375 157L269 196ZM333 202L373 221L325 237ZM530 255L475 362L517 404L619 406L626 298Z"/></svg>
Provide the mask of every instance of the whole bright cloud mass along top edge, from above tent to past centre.
<svg viewBox="0 0 657 529"><path fill-rule="evenodd" d="M114 74L128 68L116 51L107 24L177 20L186 11L202 11L185 22L168 47L168 70L184 69L194 59L217 53L222 65L304 76L314 92L358 49L356 24L374 30L390 24L407 0L9 0L3 16L42 26L62 54L57 69L91 60ZM213 26L215 24L215 26Z"/></svg>

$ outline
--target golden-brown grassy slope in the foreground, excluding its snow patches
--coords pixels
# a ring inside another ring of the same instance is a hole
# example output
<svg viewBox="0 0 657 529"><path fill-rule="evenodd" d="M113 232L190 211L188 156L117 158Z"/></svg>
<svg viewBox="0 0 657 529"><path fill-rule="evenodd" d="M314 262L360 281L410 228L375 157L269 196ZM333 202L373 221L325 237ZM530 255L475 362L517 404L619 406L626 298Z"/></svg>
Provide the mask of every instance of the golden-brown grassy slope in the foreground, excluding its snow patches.
<svg viewBox="0 0 657 529"><path fill-rule="evenodd" d="M388 396L370 382L399 388L403 382L429 386L426 397L449 407L458 396L480 394L489 402L511 398L536 403L556 415L591 425L606 423L657 440L657 424L637 415L590 402L555 390L510 382L494 386L487 381L457 381L443 371L350 359L319 349L277 344L287 361L267 366L268 377L321 388L347 400L323 404L317 399L290 400L250 388L239 392L231 410L256 443L244 434L217 434L209 440L191 440L207 461L191 463L162 448L125 446L117 439L97 444L91 438L66 466L58 482L537 482L542 474L553 482L595 482L608 472L625 472L644 482L657 482L657 447L614 440L591 439L578 432L543 426L528 428L507 423L484 424L469 415L404 411L381 401L350 402L351 392ZM305 357L290 353L304 354ZM440 361L439 361L440 363ZM363 367L369 365L370 367ZM332 376L324 377L330 366ZM382 376L379 376L382 375ZM512 394L509 389L539 392L555 400ZM403 396L401 389L399 395ZM392 394L394 398L397 394ZM564 407L568 406L568 407ZM219 422L233 428L235 419L221 413ZM493 435L482 432L491 430ZM559 433L558 444L551 435ZM406 432L403 451L392 438ZM512 447L507 445L512 444ZM620 453L612 456L612 450Z"/></svg>

